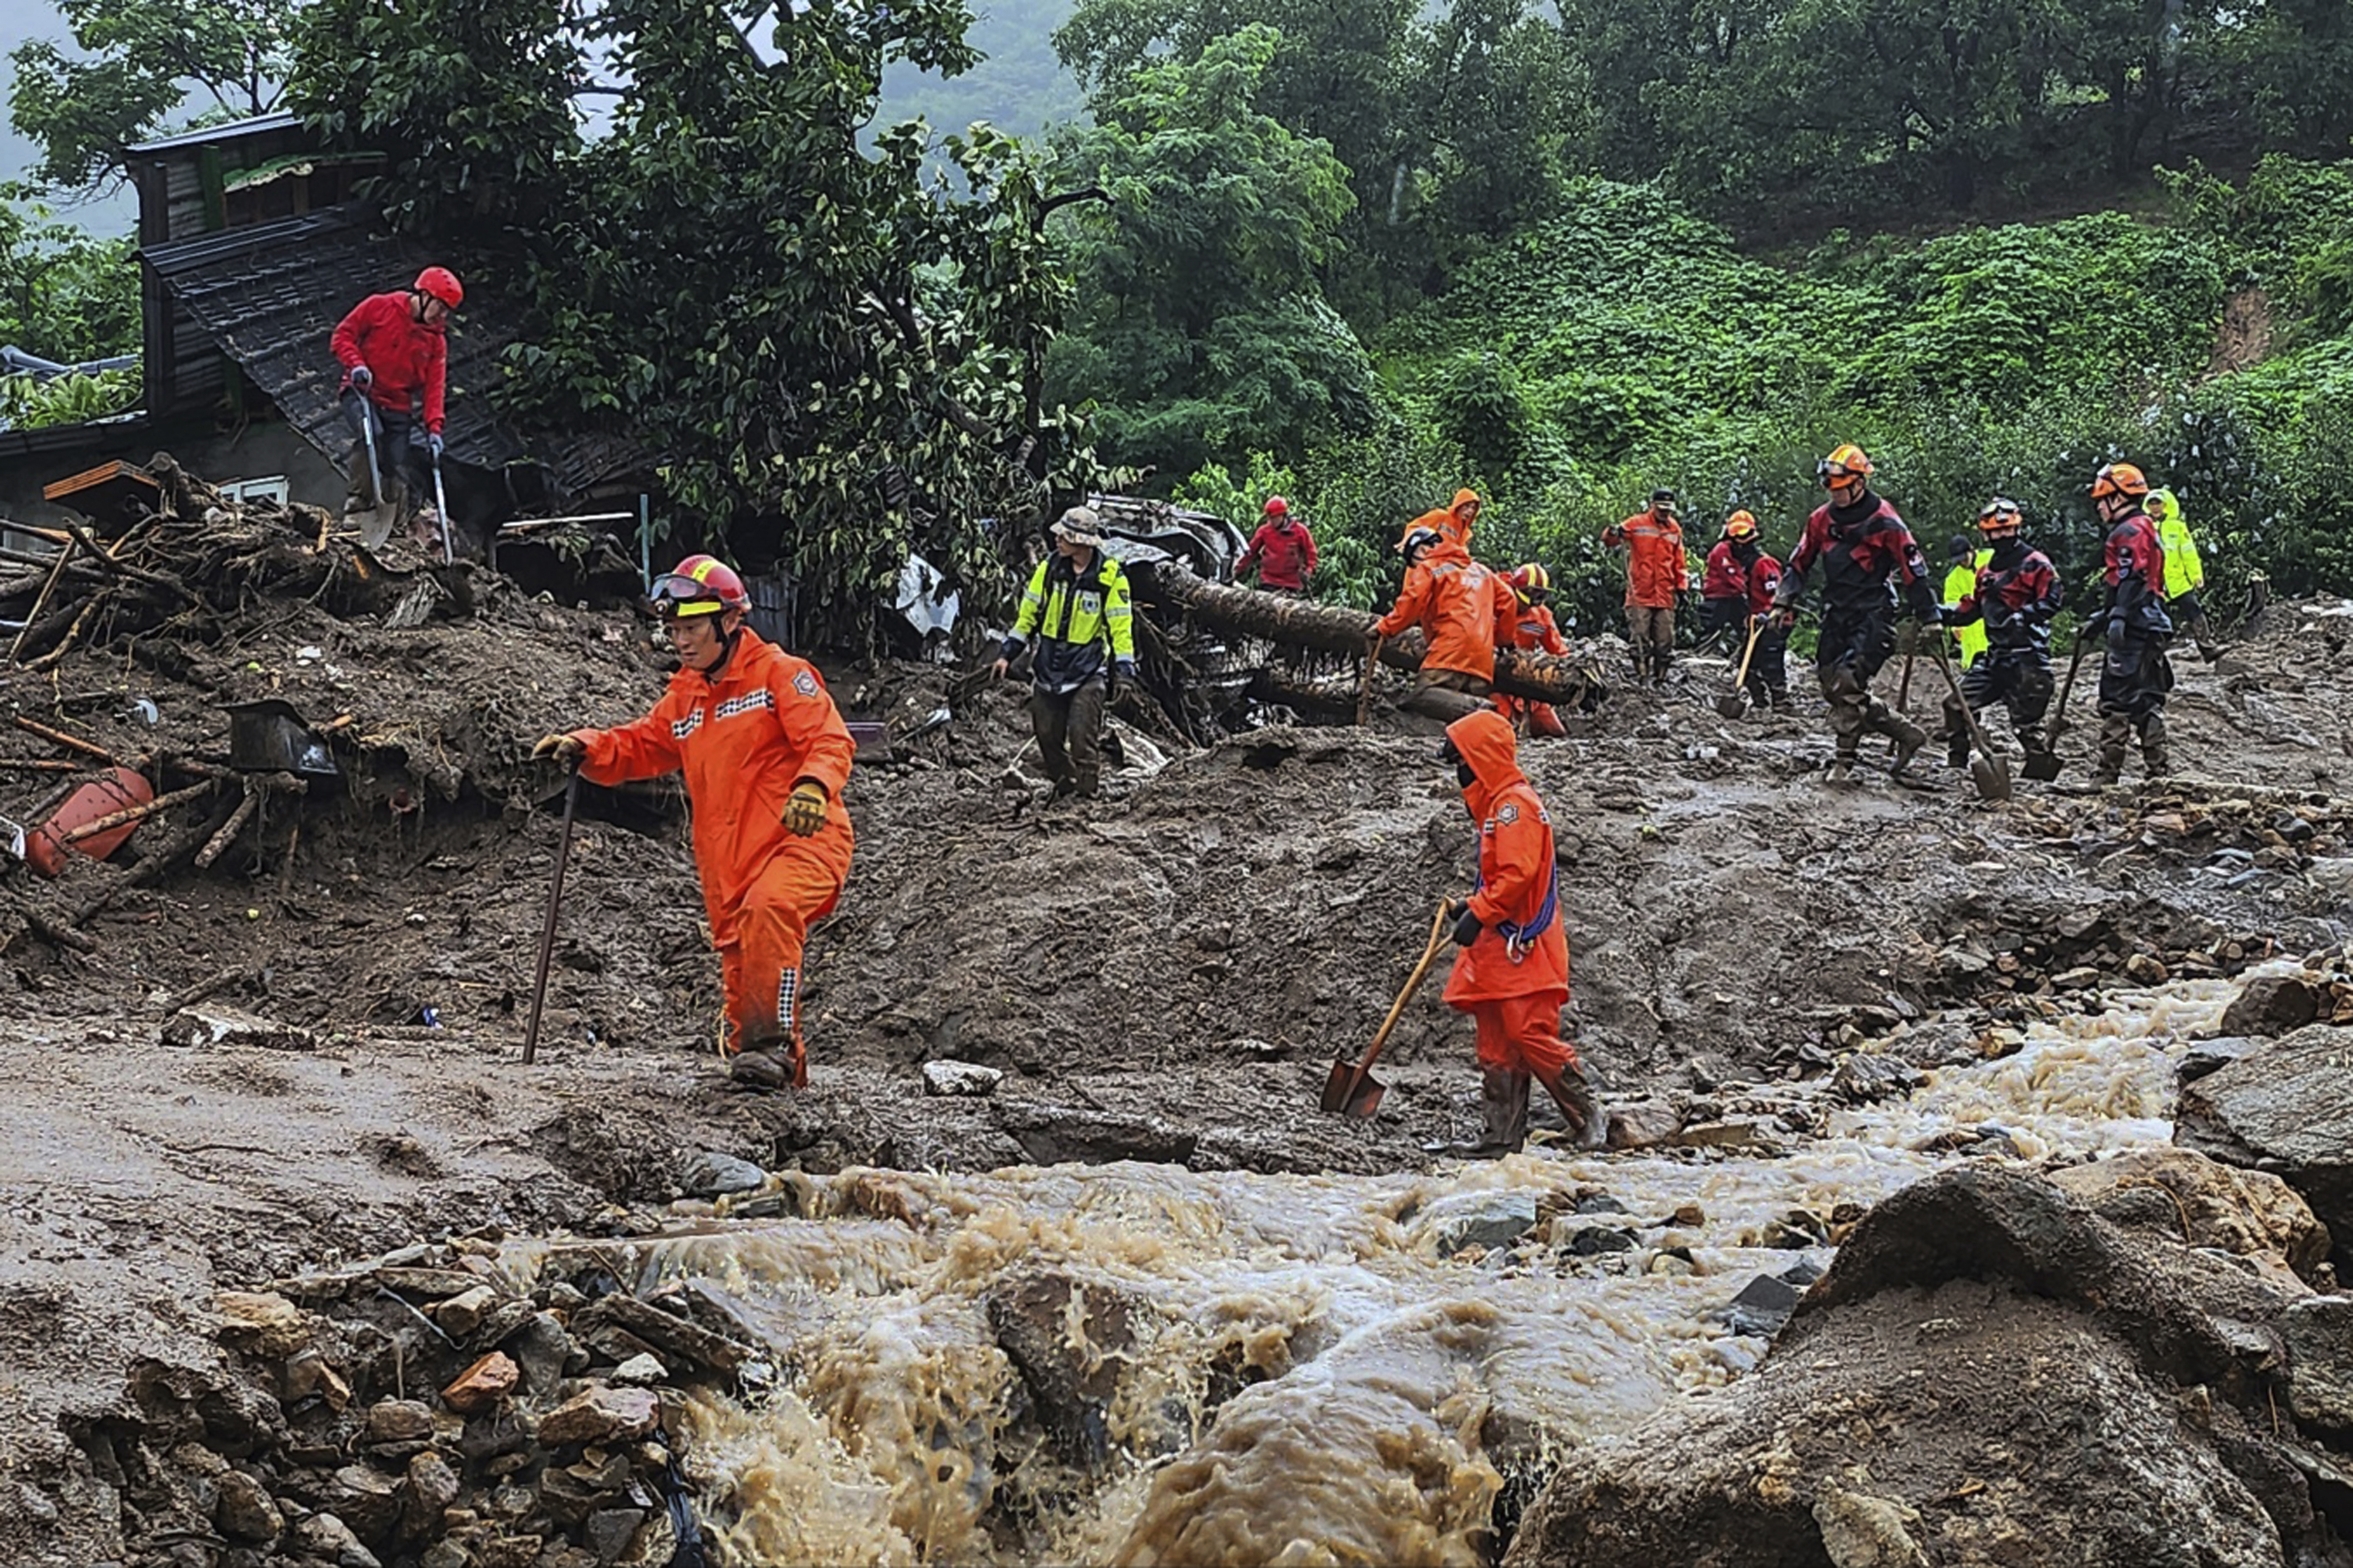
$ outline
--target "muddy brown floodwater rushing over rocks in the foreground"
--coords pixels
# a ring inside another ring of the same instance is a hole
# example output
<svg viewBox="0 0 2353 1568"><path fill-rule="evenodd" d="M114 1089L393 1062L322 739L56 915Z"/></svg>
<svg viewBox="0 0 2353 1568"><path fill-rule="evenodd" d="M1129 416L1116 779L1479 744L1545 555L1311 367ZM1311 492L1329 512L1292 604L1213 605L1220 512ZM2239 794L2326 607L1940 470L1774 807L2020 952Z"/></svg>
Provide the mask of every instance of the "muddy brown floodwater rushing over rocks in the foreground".
<svg viewBox="0 0 2353 1568"><path fill-rule="evenodd" d="M1765 1340L1732 1333L1725 1302L1831 1260L1765 1246L1791 1211L1875 1204L1984 1124L2028 1164L2165 1145L2181 1041L2235 990L2113 992L1908 1100L1831 1110L1779 1159L849 1171L793 1178L819 1218L624 1251L727 1291L786 1349L765 1396L694 1403L727 1563L1475 1563L1506 1479L1755 1366ZM1541 1215L1518 1251L1440 1255L1449 1220L1506 1190ZM1635 1246L1577 1255L1588 1227ZM1075 1446L1045 1439L991 1324L991 1295L1040 1274L1080 1284L1056 1338L1075 1373L1104 1368ZM1122 1300L1127 1331L1087 1293Z"/></svg>

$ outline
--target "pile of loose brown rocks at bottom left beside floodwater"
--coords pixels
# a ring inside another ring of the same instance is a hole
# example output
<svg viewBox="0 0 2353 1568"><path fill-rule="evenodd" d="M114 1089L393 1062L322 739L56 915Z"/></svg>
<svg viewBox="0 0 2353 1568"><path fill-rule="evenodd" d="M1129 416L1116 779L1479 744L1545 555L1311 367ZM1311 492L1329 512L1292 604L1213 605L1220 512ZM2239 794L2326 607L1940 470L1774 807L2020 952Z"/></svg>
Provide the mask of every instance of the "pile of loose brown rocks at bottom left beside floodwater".
<svg viewBox="0 0 2353 1568"><path fill-rule="evenodd" d="M219 1371L146 1361L68 1432L136 1568L696 1566L682 1387L772 1378L711 1291L520 1293L482 1239L221 1293Z"/></svg>

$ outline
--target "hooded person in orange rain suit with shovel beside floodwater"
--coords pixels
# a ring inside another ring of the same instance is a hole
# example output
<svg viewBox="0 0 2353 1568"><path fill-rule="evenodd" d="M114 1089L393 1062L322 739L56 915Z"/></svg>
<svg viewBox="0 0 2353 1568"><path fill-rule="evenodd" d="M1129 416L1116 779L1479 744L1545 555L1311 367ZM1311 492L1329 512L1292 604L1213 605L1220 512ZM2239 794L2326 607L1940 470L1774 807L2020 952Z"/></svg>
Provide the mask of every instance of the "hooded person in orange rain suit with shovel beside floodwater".
<svg viewBox="0 0 2353 1568"><path fill-rule="evenodd" d="M1609 1131L1577 1048L1560 1039L1569 1001L1569 938L1560 926L1560 867L1553 818L1520 771L1511 724L1473 712L1447 724L1438 752L1454 766L1471 820L1480 825L1478 886L1454 905L1454 973L1447 1006L1478 1027L1480 1119L1475 1145L1454 1154L1492 1159L1527 1140L1529 1081L1560 1105L1579 1147Z"/></svg>

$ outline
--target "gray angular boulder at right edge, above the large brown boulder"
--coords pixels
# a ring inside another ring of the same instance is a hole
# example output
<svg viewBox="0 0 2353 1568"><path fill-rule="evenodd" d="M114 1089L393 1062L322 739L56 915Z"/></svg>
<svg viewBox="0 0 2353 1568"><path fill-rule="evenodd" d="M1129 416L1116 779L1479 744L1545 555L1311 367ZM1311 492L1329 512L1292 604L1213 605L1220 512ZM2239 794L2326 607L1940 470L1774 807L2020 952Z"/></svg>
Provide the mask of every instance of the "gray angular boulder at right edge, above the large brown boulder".
<svg viewBox="0 0 2353 1568"><path fill-rule="evenodd" d="M2184 1084L2174 1143L2271 1171L2304 1194L2353 1267L2353 1030L2315 1025Z"/></svg>

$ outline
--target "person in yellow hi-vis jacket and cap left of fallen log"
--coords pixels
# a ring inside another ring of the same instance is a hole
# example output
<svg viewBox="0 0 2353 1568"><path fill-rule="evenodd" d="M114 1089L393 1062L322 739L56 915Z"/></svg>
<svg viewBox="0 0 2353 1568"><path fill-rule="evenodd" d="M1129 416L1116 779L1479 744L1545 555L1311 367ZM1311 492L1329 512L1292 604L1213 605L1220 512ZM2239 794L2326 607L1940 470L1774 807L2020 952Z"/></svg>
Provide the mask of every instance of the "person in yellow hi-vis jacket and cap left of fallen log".
<svg viewBox="0 0 2353 1568"><path fill-rule="evenodd" d="M1104 708L1111 679L1134 679L1136 623L1127 574L1104 555L1094 508L1073 505L1052 529L1054 550L1031 571L1021 611L991 665L998 679L1031 637L1031 731L1054 797L1104 790Z"/></svg>

